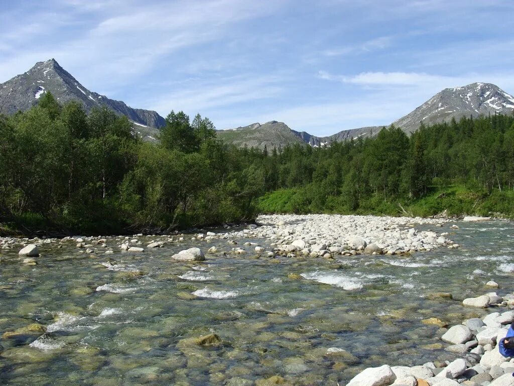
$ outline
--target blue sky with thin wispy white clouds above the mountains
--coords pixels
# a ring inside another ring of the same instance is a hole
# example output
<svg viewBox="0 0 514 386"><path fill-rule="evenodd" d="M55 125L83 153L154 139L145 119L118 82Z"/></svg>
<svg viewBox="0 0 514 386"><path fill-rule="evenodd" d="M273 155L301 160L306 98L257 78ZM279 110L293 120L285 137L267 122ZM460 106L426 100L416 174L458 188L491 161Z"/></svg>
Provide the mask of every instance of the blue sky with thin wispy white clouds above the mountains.
<svg viewBox="0 0 514 386"><path fill-rule="evenodd" d="M514 94L514 2L0 0L0 82L55 58L91 91L218 129L387 125L445 87Z"/></svg>

